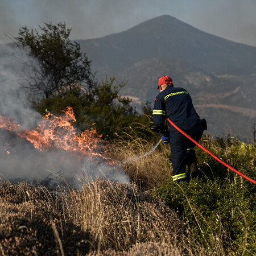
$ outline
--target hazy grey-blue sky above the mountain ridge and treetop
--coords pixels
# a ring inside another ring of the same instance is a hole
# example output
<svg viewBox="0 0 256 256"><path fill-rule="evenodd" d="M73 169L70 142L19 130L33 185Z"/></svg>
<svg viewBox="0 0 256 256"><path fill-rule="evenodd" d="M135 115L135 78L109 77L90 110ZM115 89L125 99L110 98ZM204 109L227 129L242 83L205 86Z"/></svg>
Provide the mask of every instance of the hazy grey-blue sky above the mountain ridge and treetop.
<svg viewBox="0 0 256 256"><path fill-rule="evenodd" d="M0 0L0 42L43 22L65 22L74 40L98 38L163 14L256 46L256 0Z"/></svg>

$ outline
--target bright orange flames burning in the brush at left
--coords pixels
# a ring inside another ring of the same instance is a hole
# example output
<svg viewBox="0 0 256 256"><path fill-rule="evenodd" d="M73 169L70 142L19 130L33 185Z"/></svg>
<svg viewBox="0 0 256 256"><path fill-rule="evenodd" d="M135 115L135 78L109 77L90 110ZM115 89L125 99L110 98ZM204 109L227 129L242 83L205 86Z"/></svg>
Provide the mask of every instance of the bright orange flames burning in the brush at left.
<svg viewBox="0 0 256 256"><path fill-rule="evenodd" d="M31 142L39 151L58 148L82 155L100 155L96 150L101 136L97 135L96 129L92 127L79 134L73 126L74 122L76 118L71 107L68 107L61 116L48 113L33 130L23 129L9 117L0 114L0 128L16 133Z"/></svg>

